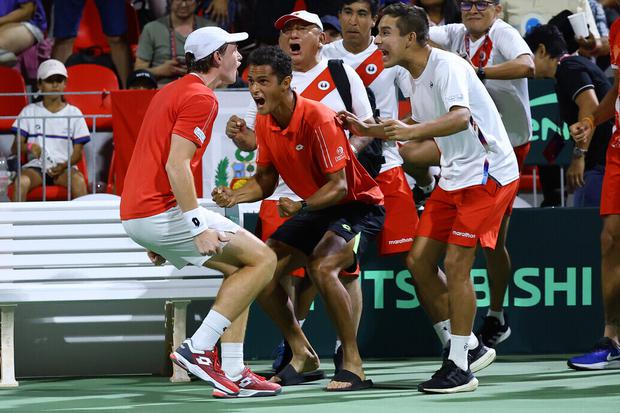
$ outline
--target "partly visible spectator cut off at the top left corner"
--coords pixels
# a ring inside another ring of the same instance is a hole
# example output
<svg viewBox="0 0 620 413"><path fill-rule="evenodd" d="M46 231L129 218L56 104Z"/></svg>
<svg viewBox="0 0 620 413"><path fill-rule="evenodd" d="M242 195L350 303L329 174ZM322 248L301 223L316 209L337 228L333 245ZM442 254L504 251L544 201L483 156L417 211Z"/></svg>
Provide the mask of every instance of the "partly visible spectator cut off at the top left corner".
<svg viewBox="0 0 620 413"><path fill-rule="evenodd" d="M17 55L43 40L45 30L41 0L0 1L0 65L15 65Z"/></svg>

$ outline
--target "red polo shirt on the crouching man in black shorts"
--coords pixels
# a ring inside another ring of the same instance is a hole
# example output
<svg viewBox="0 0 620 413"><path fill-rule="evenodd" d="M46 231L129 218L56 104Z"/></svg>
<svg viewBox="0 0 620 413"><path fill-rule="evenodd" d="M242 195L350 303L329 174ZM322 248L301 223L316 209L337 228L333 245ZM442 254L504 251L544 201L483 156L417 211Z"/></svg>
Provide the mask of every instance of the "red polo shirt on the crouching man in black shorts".
<svg viewBox="0 0 620 413"><path fill-rule="evenodd" d="M340 203L383 204L379 186L353 155L336 113L320 102L296 97L293 116L284 130L271 115L257 115L257 163L273 165L303 199L327 183L327 174L344 169L348 192Z"/></svg>

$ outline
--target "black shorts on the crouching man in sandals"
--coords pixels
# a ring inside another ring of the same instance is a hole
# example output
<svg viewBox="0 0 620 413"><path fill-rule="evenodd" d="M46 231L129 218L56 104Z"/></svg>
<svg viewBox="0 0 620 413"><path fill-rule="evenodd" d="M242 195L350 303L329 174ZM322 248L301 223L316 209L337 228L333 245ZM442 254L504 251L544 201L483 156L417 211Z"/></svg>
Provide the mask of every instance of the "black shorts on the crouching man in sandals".
<svg viewBox="0 0 620 413"><path fill-rule="evenodd" d="M327 231L332 231L346 242L360 232L372 238L381 231L385 219L383 205L349 202L342 205L304 211L282 224L271 239L297 248L311 255Z"/></svg>

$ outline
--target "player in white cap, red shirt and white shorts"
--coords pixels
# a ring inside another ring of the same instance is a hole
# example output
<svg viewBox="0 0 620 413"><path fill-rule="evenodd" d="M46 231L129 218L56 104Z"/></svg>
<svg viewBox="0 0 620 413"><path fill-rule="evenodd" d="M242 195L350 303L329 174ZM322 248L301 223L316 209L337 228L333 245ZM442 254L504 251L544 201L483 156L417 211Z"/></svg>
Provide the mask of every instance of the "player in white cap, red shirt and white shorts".
<svg viewBox="0 0 620 413"><path fill-rule="evenodd" d="M192 173L200 165L217 116L212 89L235 81L241 60L235 43L247 37L219 27L201 28L188 36L190 73L153 97L121 197L123 227L148 250L155 265L168 260L177 268L206 266L225 275L202 325L170 355L180 367L209 382L216 397L272 396L281 390L252 373L243 361L236 369L219 367L217 341L233 320L245 316L271 281L276 257L254 235L200 207ZM228 334L236 330L230 328Z"/></svg>

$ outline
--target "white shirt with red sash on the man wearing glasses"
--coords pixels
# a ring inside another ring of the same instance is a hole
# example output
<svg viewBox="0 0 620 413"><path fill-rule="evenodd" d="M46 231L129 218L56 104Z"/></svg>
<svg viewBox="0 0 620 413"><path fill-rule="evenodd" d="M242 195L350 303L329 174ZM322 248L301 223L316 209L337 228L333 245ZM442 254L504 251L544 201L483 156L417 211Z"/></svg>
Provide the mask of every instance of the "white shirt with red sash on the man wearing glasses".
<svg viewBox="0 0 620 413"><path fill-rule="evenodd" d="M464 24L435 26L430 39L445 50L467 55L476 67L498 65L527 54L532 55L517 29L497 19L488 34L472 41ZM513 147L525 145L532 137L532 114L527 79L485 80L485 86L502 115Z"/></svg>

